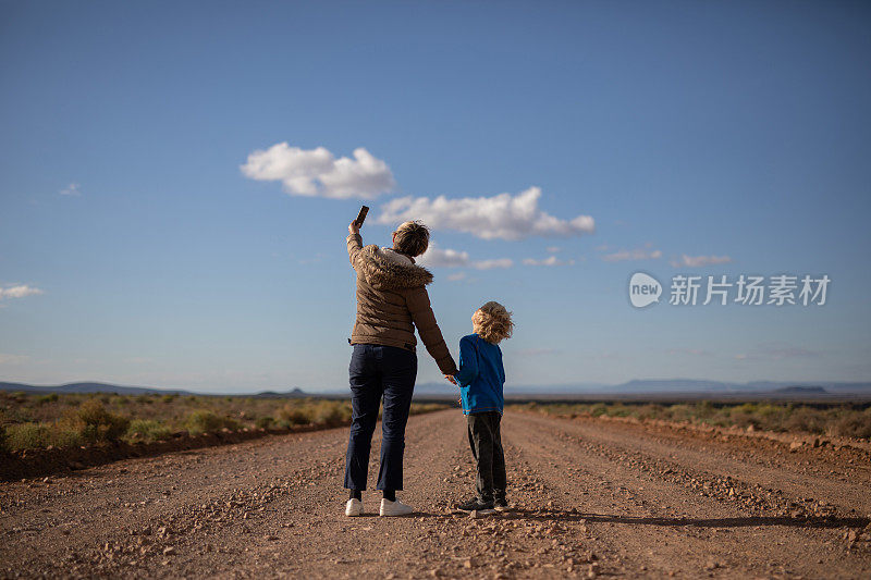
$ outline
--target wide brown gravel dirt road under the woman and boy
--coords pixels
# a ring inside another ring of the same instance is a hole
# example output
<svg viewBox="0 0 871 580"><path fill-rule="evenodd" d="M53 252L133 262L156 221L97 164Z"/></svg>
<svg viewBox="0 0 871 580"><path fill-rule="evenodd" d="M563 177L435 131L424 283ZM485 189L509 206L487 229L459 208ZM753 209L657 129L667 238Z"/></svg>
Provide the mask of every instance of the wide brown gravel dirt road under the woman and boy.
<svg viewBox="0 0 871 580"><path fill-rule="evenodd" d="M449 510L457 410L409 421L408 518L376 492L344 517L346 429L0 484L0 576L871 577L867 455L512 412L503 433L516 509L479 519Z"/></svg>

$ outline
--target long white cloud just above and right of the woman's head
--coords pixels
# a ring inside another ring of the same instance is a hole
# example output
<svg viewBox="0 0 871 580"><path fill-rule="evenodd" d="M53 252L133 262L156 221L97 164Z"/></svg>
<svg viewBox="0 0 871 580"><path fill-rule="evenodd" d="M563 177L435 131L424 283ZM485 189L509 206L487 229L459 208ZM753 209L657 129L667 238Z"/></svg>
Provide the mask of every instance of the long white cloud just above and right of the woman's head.
<svg viewBox="0 0 871 580"><path fill-rule="evenodd" d="M538 207L540 197L539 187L530 187L516 196L500 194L458 199L408 196L388 201L381 208L378 223L421 220L433 230L456 230L483 239L579 236L596 230L589 215L561 220L542 211Z"/></svg>

